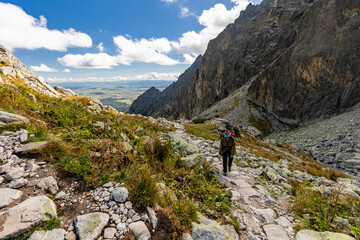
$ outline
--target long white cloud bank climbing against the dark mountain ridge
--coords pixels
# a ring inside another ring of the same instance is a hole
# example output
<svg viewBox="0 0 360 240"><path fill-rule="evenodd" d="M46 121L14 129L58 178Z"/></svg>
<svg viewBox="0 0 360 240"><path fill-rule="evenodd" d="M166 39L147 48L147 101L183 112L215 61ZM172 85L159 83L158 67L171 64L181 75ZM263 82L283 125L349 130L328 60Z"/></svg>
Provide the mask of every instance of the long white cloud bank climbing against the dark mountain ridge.
<svg viewBox="0 0 360 240"><path fill-rule="evenodd" d="M224 28L235 21L240 12L249 4L248 0L231 0L234 7L227 9L224 4L216 4L204 10L198 17L198 22L204 28L199 31L189 31L174 41L167 38L132 39L129 35L119 35L113 38L118 54L110 56L106 53L87 53L84 55L67 54L58 58L58 62L74 68L111 68L119 64L155 63L159 65L191 64L196 57L204 54L209 41L215 38ZM191 14L189 9L181 10L183 15ZM100 45L98 46L100 47ZM170 54L180 54L184 61L169 57Z"/></svg>

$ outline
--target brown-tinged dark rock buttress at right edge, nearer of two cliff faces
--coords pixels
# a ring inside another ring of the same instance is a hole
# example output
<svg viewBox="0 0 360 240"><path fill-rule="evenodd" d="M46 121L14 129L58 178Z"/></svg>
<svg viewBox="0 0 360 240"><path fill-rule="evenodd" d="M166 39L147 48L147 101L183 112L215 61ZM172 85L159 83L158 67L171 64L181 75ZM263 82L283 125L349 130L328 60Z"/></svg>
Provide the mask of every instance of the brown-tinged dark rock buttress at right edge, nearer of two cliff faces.
<svg viewBox="0 0 360 240"><path fill-rule="evenodd" d="M250 86L249 99L298 122L343 112L360 101L359 39L359 1L315 2L292 46Z"/></svg>

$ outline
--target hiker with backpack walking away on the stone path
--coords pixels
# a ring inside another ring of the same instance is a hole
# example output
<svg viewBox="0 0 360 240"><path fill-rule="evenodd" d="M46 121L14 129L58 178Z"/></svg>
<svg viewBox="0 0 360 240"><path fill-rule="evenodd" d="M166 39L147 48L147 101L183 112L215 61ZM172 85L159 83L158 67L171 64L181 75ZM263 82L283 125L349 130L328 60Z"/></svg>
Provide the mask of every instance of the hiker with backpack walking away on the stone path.
<svg viewBox="0 0 360 240"><path fill-rule="evenodd" d="M226 130L221 135L219 154L223 157L224 175L227 175L227 170L231 171L231 165L236 153L234 134Z"/></svg>

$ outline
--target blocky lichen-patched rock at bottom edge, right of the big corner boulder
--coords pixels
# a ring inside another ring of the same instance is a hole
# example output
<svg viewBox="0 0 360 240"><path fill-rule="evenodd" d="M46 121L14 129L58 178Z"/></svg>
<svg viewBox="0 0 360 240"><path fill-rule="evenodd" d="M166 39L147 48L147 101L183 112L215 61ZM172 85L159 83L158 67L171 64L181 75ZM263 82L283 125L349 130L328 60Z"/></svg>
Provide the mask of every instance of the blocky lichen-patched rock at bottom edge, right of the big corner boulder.
<svg viewBox="0 0 360 240"><path fill-rule="evenodd" d="M89 213L74 219L76 233L80 240L94 240L109 222L107 213Z"/></svg>

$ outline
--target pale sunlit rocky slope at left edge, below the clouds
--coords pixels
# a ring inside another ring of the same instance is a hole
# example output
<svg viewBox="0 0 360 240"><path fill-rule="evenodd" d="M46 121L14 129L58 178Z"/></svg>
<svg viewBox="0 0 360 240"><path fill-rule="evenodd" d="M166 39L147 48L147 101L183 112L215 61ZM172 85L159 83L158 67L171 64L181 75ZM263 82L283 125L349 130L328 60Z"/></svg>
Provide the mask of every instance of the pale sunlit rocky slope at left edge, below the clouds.
<svg viewBox="0 0 360 240"><path fill-rule="evenodd" d="M9 83L11 79L23 79L29 87L51 97L60 97L60 93L52 86L41 80L35 73L26 67L9 50L0 45L0 84Z"/></svg>

